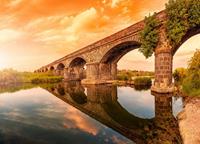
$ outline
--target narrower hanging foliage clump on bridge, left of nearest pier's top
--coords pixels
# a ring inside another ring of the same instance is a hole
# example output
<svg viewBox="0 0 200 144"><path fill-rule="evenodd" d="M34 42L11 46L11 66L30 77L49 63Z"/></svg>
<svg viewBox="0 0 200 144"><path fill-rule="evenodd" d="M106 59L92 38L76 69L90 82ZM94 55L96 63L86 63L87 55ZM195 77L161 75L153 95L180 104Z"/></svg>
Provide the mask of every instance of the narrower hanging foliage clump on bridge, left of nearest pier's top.
<svg viewBox="0 0 200 144"><path fill-rule="evenodd" d="M153 16L145 17L145 27L140 34L142 45L139 48L139 51L143 53L146 58L152 56L154 49L158 44L159 35L156 29L158 25L159 22L157 21L155 14Z"/></svg>

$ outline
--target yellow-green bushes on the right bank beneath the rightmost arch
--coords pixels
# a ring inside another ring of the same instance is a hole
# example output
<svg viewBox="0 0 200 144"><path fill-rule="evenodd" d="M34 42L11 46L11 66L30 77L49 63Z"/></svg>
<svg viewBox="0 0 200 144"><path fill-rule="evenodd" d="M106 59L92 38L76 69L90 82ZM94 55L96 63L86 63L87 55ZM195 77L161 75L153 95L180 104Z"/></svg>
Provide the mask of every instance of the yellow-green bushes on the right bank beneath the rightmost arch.
<svg viewBox="0 0 200 144"><path fill-rule="evenodd" d="M175 84L187 95L200 96L200 50L189 61L187 69L179 68L174 72Z"/></svg>

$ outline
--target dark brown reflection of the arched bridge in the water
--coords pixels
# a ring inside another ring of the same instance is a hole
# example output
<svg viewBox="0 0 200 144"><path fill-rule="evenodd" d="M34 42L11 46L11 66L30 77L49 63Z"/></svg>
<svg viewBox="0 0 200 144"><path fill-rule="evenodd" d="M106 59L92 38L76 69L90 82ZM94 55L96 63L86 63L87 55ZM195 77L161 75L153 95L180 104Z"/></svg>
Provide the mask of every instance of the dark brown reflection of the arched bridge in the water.
<svg viewBox="0 0 200 144"><path fill-rule="evenodd" d="M172 112L172 94L152 93L155 97L155 117L143 119L120 105L116 86L82 86L71 82L45 89L136 143L182 143Z"/></svg>

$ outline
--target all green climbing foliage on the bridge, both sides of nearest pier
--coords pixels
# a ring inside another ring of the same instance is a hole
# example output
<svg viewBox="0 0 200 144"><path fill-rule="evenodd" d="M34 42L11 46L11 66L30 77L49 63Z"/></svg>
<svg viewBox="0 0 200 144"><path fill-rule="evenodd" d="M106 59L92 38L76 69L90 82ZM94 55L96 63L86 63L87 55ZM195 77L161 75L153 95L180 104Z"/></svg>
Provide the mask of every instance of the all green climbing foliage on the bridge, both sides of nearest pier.
<svg viewBox="0 0 200 144"><path fill-rule="evenodd" d="M199 0L169 0L166 4L166 32L172 47L178 46L186 33L200 27L200 1ZM145 27L141 32L141 47L139 51L146 58L152 56L158 41L157 28L159 21L153 16L145 17Z"/></svg>

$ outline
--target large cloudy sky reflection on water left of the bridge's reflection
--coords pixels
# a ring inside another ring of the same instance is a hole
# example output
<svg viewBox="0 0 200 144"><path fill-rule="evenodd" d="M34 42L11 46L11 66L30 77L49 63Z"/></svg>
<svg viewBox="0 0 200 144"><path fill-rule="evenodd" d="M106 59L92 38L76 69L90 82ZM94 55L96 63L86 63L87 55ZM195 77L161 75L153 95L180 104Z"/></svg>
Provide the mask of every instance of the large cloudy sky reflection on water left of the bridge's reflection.
<svg viewBox="0 0 200 144"><path fill-rule="evenodd" d="M40 88L0 94L0 125L4 142L131 143Z"/></svg>

